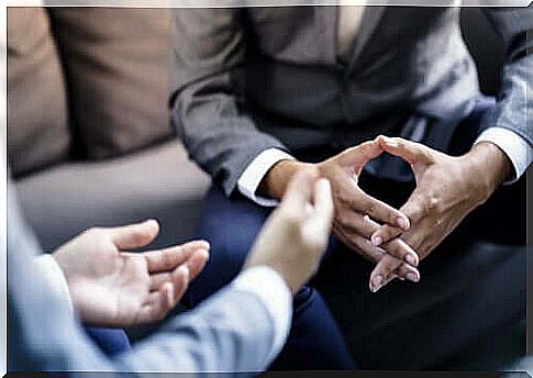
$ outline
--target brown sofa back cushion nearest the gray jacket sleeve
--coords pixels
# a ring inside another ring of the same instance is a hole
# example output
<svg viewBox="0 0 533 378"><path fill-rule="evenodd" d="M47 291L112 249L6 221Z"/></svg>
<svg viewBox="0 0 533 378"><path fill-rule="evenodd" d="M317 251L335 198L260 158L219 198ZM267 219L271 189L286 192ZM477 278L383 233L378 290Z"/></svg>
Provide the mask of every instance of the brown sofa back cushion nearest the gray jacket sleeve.
<svg viewBox="0 0 533 378"><path fill-rule="evenodd" d="M51 8L76 151L119 156L173 135L169 10Z"/></svg>

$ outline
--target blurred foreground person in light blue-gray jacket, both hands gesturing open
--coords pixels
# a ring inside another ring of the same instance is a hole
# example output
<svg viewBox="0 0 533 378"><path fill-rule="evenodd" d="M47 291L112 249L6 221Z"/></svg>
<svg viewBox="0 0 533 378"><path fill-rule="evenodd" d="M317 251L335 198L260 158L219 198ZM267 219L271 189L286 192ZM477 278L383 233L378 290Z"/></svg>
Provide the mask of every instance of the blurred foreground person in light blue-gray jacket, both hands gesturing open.
<svg viewBox="0 0 533 378"><path fill-rule="evenodd" d="M47 257L65 276L67 294L57 290L60 275L46 275L35 263L40 247L11 187L8 194L9 371L264 370L287 338L291 293L315 271L333 216L329 181L302 171L230 285L132 351L108 357L81 322L124 326L162 319L202 269L209 245L132 254L126 251L155 237L156 222L92 229Z"/></svg>

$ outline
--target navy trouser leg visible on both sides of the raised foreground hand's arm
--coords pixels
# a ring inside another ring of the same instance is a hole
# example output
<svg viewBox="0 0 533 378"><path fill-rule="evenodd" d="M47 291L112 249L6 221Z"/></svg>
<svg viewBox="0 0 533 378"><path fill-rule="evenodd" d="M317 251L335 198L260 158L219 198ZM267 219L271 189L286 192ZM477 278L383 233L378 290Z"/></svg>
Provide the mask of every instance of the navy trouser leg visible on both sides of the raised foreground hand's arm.
<svg viewBox="0 0 533 378"><path fill-rule="evenodd" d="M244 199L226 199L211 188L197 237L211 244L204 270L191 282L182 303L195 307L229 284L241 270L270 209ZM270 369L354 369L356 365L320 294L309 287L293 300L289 338Z"/></svg>

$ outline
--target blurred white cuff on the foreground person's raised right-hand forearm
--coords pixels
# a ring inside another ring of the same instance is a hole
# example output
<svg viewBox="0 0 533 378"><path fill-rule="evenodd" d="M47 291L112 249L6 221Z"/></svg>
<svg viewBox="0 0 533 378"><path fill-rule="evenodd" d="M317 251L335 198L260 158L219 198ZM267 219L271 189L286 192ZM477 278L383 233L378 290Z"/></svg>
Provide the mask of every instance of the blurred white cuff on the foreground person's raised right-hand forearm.
<svg viewBox="0 0 533 378"><path fill-rule="evenodd" d="M231 284L237 290L255 294L265 304L274 323L270 362L281 352L290 331L292 294L281 276L266 266L245 269Z"/></svg>

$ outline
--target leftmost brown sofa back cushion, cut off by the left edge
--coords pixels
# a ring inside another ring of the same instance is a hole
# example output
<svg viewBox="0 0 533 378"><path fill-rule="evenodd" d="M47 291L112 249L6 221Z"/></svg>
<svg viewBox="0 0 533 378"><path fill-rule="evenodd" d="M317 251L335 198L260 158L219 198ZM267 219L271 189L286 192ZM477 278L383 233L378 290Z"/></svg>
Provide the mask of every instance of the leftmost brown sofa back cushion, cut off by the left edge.
<svg viewBox="0 0 533 378"><path fill-rule="evenodd" d="M66 157L66 90L44 8L8 8L8 154L13 176Z"/></svg>

